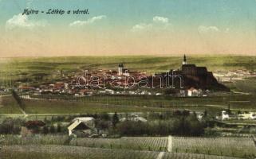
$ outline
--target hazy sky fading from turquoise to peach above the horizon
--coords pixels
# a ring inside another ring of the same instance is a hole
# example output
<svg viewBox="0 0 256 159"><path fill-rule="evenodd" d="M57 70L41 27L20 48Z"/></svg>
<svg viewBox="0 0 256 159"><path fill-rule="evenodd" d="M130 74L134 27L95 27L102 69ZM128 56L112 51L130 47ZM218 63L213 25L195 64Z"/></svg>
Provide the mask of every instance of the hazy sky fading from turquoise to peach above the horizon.
<svg viewBox="0 0 256 159"><path fill-rule="evenodd" d="M256 0L0 0L0 56L183 53L256 56Z"/></svg>

